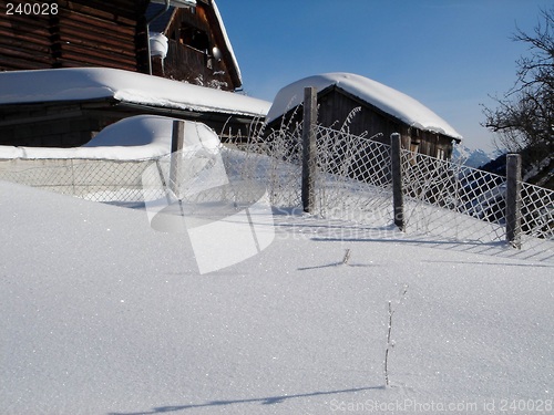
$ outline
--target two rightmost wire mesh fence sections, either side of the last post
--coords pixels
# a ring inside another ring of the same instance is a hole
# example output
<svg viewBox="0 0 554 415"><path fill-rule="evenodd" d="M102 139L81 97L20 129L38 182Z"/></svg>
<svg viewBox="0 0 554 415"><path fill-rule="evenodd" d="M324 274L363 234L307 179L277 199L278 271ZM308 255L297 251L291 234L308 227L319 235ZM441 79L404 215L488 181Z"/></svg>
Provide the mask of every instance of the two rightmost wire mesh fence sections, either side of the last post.
<svg viewBox="0 0 554 415"><path fill-rule="evenodd" d="M505 177L408 151L402 151L402 172L409 232L483 243L505 240ZM552 259L554 191L521 186L524 249Z"/></svg>

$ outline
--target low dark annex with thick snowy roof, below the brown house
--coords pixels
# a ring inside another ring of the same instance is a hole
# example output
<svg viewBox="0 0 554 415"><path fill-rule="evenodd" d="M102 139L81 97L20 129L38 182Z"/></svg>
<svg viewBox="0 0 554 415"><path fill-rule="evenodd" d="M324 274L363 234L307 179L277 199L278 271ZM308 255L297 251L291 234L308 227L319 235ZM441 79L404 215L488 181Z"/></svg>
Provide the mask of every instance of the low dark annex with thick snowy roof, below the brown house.
<svg viewBox="0 0 554 415"><path fill-rule="evenodd" d="M107 68L0 73L0 145L74 147L134 115L202 122L217 134L263 120L270 103ZM225 128L225 131L224 131Z"/></svg>

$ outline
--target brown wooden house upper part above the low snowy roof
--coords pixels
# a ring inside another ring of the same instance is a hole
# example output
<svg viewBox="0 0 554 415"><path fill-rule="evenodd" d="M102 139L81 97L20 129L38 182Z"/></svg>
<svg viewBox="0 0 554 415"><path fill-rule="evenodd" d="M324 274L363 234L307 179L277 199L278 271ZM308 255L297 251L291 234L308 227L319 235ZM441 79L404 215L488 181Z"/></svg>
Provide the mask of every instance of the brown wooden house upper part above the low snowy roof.
<svg viewBox="0 0 554 415"><path fill-rule="evenodd" d="M0 0L0 72L100 66L226 91L242 85L215 0L57 0L28 6L19 9Z"/></svg>

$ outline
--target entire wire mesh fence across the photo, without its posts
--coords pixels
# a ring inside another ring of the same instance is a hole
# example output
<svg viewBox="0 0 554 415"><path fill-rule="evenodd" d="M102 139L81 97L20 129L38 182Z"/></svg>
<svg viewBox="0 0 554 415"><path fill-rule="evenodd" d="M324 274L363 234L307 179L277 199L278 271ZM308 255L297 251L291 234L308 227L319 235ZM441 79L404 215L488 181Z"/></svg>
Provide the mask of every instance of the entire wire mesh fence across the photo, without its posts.
<svg viewBox="0 0 554 415"><path fill-rule="evenodd" d="M315 215L371 226L393 220L391 146L348 131L317 127ZM178 183L172 174L181 157ZM50 189L84 199L140 206L198 179L197 152L156 159L2 160L0 180ZM227 143L218 152L230 186L196 193L192 204L225 200L243 206L267 193L277 208L301 206L301 125ZM202 158L202 157L201 157ZM208 157L209 158L209 157ZM207 165L209 159L205 160ZM185 172L188 169L189 172ZM401 151L404 220L408 235L449 241L505 245L506 178L460 163ZM195 176L196 175L196 176ZM148 183L156 186L148 187ZM160 187L160 183L162 187ZM204 185L205 186L205 185ZM194 194L194 197L192 196ZM204 198L204 199L202 199ZM527 258L554 260L554 191L521 184L521 250Z"/></svg>

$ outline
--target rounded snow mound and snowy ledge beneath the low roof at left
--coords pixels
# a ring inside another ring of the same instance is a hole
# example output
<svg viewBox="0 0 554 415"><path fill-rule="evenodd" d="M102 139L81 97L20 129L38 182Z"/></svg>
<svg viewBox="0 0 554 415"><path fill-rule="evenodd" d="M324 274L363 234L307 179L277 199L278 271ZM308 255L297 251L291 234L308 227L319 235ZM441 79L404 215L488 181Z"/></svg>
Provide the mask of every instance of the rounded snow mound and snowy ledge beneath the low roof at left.
<svg viewBox="0 0 554 415"><path fill-rule="evenodd" d="M11 147L0 146L2 158L94 158L135 160L157 158L171 153L175 118L137 115L102 129L82 147ZM215 132L202 123L185 122L185 149L216 148L220 145Z"/></svg>

